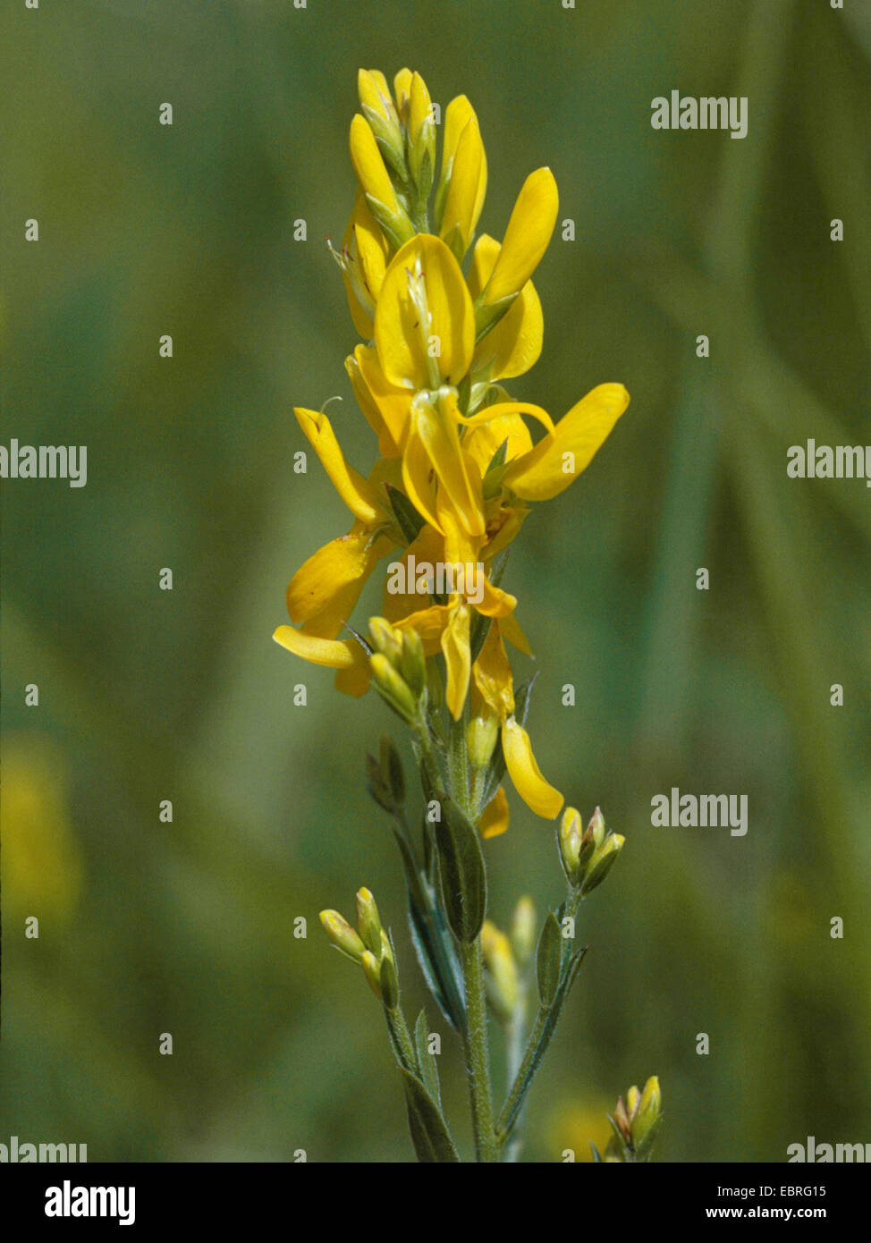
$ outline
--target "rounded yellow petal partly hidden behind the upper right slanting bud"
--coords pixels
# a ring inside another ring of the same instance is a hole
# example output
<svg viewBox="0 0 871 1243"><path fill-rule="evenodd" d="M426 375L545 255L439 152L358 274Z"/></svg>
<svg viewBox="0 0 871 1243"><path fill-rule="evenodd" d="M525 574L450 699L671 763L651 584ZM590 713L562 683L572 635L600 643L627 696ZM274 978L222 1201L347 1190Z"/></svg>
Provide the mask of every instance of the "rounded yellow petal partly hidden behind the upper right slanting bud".
<svg viewBox="0 0 871 1243"><path fill-rule="evenodd" d="M495 237L483 234L475 244L468 292L476 298L490 280L501 251ZM544 339L544 317L536 286L527 281L508 313L483 337L472 359L472 370L491 368L491 378L511 379L523 375L538 362Z"/></svg>

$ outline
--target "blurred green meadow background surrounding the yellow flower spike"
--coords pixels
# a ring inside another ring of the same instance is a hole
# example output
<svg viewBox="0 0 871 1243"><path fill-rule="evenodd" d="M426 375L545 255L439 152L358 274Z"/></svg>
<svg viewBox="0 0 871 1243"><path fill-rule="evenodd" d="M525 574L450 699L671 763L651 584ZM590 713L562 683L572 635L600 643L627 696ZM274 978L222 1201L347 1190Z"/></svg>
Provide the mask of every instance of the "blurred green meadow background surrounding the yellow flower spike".
<svg viewBox="0 0 871 1243"><path fill-rule="evenodd" d="M581 1158L652 1073L662 1160L871 1140L869 492L785 472L809 436L871 439L867 9L43 0L4 24L0 439L87 444L88 482L2 484L0 1140L411 1160L378 1007L317 921L370 886L414 1017L398 858L363 788L391 721L271 639L291 574L349 521L314 455L292 471L292 405L340 394L349 457L374 455L324 239L353 199L357 70L403 65L478 113L482 229L501 236L544 163L575 221L536 277L544 352L513 392L554 415L604 380L632 394L504 580L540 658L542 767L627 837L584 907L593 950L526 1158ZM651 129L672 88L747 96L748 137ZM747 794L749 833L651 828L672 786ZM502 924L562 886L550 833L512 810L487 845Z"/></svg>

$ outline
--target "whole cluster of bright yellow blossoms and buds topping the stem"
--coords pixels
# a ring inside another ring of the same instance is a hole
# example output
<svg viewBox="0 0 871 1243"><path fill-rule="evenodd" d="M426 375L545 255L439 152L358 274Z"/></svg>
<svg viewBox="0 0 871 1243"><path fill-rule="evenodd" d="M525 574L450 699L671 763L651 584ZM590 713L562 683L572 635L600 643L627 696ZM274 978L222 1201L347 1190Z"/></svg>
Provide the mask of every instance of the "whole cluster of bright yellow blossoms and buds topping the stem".
<svg viewBox="0 0 871 1243"><path fill-rule="evenodd" d="M294 414L354 521L316 552L287 588L293 625L276 640L337 670L339 690L362 695L374 680L405 702L404 667L444 656L444 702L465 720L472 763L497 743L512 782L553 819L563 796L542 776L516 704L506 641L529 644L517 599L498 585L504 552L529 505L562 492L590 462L629 395L601 384L558 423L512 399L504 382L542 349L542 307L532 283L554 229L558 194L548 168L531 173L502 241L475 231L487 186L477 117L465 96L445 109L436 178L435 108L419 73L401 70L393 92L383 73L359 73L360 112L350 126L358 193L340 251L350 316L362 342L345 359L358 404L378 438L364 477L344 457L326 414ZM463 275L463 265L466 272ZM543 434L533 443L529 426ZM394 553L405 590L384 593L372 641L348 625L367 579ZM471 590L460 576L437 594L434 564L481 566ZM424 593L414 567L424 571ZM426 694L419 679L413 696ZM385 696L389 697L389 696ZM401 706L398 711L403 711ZM411 711L409 709L408 711ZM476 751L477 748L477 751ZM498 789L482 830L507 825Z"/></svg>

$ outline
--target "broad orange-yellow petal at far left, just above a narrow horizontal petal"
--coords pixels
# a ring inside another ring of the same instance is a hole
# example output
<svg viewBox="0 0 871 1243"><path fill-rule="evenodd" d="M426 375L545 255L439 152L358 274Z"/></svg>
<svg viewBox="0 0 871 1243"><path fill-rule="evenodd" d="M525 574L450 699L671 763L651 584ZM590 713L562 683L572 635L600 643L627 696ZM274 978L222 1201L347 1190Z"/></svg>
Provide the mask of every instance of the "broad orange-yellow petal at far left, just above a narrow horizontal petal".
<svg viewBox="0 0 871 1243"><path fill-rule="evenodd" d="M359 599L386 541L357 523L347 536L331 539L299 567L287 588L287 612L296 625L319 639L334 639Z"/></svg>

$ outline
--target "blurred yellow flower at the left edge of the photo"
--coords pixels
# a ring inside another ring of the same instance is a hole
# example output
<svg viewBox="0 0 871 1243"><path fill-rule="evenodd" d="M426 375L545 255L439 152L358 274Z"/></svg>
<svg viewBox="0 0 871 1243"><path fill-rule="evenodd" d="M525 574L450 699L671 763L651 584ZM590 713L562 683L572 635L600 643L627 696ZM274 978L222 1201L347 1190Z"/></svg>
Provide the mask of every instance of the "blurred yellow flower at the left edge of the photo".
<svg viewBox="0 0 871 1243"><path fill-rule="evenodd" d="M46 735L2 738L4 917L35 915L40 935L70 920L83 866L68 804L68 764Z"/></svg>

